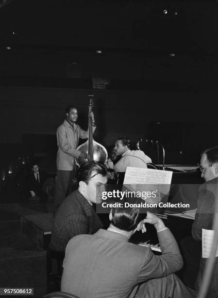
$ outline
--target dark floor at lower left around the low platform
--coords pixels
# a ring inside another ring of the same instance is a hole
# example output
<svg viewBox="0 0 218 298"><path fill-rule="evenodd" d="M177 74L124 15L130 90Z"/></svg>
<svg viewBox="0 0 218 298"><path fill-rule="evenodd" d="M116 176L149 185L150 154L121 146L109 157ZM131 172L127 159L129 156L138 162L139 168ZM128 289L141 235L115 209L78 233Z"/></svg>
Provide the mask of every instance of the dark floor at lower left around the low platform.
<svg viewBox="0 0 218 298"><path fill-rule="evenodd" d="M47 293L46 250L24 234L22 219L50 233L53 204L43 213L40 204L0 204L0 287L31 287L34 297ZM33 233L32 233L33 234Z"/></svg>

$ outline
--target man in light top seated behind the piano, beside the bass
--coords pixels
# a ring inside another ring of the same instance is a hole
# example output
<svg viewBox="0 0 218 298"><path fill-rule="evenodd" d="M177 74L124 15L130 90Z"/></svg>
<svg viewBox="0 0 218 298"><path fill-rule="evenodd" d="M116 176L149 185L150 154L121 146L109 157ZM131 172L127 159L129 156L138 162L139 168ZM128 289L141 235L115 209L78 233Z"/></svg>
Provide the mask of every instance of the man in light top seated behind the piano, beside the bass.
<svg viewBox="0 0 218 298"><path fill-rule="evenodd" d="M130 150L130 143L127 137L120 137L115 143L115 153L121 156L114 166L116 173L125 172L127 167L147 168L147 164L151 163L151 158L142 150Z"/></svg>

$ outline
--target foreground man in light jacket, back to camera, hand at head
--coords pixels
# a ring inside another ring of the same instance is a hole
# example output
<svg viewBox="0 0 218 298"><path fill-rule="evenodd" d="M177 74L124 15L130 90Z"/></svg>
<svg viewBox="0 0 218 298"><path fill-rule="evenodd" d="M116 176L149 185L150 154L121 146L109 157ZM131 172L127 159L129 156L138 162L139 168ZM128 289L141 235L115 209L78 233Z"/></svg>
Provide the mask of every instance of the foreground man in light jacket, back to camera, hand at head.
<svg viewBox="0 0 218 298"><path fill-rule="evenodd" d="M183 265L177 242L163 221L138 208L115 208L111 224L94 235L71 239L63 262L61 290L80 298L191 298L174 274ZM151 248L129 242L135 230L146 231L144 223L155 226L161 256Z"/></svg>

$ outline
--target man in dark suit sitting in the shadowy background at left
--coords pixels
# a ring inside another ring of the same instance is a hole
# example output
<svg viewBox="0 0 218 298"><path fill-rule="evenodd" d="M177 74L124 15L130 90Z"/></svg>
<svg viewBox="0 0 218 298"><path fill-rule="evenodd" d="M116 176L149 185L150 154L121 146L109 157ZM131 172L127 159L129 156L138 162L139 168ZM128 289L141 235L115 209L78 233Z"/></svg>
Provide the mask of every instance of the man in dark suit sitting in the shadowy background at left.
<svg viewBox="0 0 218 298"><path fill-rule="evenodd" d="M37 163L32 164L32 173L27 176L27 198L39 197L39 202L46 204L48 199L48 194L43 190L43 185L48 178L48 174L43 171L39 171L39 166Z"/></svg>

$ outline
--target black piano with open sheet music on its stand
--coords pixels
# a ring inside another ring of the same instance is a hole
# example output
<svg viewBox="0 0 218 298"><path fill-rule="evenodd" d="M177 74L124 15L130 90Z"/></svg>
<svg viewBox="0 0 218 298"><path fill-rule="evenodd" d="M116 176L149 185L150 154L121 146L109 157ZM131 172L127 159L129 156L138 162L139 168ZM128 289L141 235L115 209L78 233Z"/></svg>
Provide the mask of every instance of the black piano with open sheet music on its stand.
<svg viewBox="0 0 218 298"><path fill-rule="evenodd" d="M180 195L187 200L185 203L191 203L191 209L197 207L198 188L204 182L201 178L201 172L197 166L194 165L165 165L166 170L171 170L172 181L169 192L168 202L178 203L181 202ZM117 189L122 190L125 173L118 172L117 180L113 181L117 185ZM196 187L194 187L196 186ZM189 188L188 188L189 187ZM178 191L179 190L179 191ZM188 197L187 197L188 196ZM177 209L178 212L185 211L184 208ZM164 221L165 225L170 229L173 236L179 242L186 236L191 235L191 227L193 219L175 217L165 214L159 214ZM102 220L102 218L101 218ZM109 223L104 224L105 228ZM147 232L142 234L140 231L135 232L131 237L130 242L139 244L141 246L151 247L155 254L160 254L161 249L155 228L151 224L146 224Z"/></svg>

